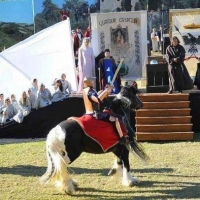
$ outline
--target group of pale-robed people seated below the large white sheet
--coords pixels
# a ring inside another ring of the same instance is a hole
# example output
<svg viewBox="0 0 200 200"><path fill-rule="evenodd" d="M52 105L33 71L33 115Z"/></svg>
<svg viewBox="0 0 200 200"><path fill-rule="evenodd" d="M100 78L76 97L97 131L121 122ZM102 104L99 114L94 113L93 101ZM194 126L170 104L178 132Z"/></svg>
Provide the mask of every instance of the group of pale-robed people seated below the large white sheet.
<svg viewBox="0 0 200 200"><path fill-rule="evenodd" d="M0 124L12 120L20 123L30 112L62 101L73 92L65 74L62 74L60 79L55 79L52 86L53 92L46 88L43 83L38 85L38 80L35 78L32 87L23 91L18 100L15 94L6 99L4 99L3 93L0 94Z"/></svg>

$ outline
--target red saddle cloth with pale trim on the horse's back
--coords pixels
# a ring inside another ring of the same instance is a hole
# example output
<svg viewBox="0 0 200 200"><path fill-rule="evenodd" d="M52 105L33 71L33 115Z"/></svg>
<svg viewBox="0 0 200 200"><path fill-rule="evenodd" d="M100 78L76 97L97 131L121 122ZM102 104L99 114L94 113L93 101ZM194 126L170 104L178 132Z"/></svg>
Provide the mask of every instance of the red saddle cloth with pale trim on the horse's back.
<svg viewBox="0 0 200 200"><path fill-rule="evenodd" d="M115 124L98 120L91 115L82 117L70 117L79 123L85 134L96 141L104 152L119 142L119 134L116 131ZM120 122L124 136L127 135L126 129Z"/></svg>

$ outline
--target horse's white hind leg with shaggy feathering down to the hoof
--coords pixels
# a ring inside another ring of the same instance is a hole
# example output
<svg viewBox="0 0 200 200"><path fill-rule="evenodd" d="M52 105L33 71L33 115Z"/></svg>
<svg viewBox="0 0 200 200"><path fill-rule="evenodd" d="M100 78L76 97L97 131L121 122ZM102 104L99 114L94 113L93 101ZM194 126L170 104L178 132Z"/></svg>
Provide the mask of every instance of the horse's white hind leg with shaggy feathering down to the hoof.
<svg viewBox="0 0 200 200"><path fill-rule="evenodd" d="M46 141L48 157L48 168L47 171L52 169L50 166L51 159L53 161L53 173L49 177L48 182L55 184L60 190L67 194L72 194L75 191L74 186L78 184L72 180L67 172L67 166L70 163L70 159L65 150L65 133L62 128L57 125L53 128ZM45 175L43 175L45 176ZM41 179L44 179L43 177Z"/></svg>

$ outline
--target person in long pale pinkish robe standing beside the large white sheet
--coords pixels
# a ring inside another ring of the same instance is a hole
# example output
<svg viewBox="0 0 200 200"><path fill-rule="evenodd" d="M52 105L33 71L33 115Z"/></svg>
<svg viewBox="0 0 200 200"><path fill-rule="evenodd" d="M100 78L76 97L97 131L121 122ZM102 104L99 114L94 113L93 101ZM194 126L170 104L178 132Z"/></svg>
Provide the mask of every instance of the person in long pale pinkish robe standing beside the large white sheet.
<svg viewBox="0 0 200 200"><path fill-rule="evenodd" d="M78 53L79 85L78 92L83 89L84 77L95 77L95 59L93 49L89 46L89 39L84 38Z"/></svg>

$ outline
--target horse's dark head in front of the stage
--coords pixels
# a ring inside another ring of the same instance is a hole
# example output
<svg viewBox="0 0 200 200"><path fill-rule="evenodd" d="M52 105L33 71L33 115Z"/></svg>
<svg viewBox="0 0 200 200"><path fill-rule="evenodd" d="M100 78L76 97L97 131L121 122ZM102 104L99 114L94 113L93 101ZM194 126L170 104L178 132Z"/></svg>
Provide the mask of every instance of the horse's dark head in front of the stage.
<svg viewBox="0 0 200 200"><path fill-rule="evenodd" d="M142 101L138 97L139 91L134 86L124 86L114 101L118 101L124 108L140 109L143 107Z"/></svg>

